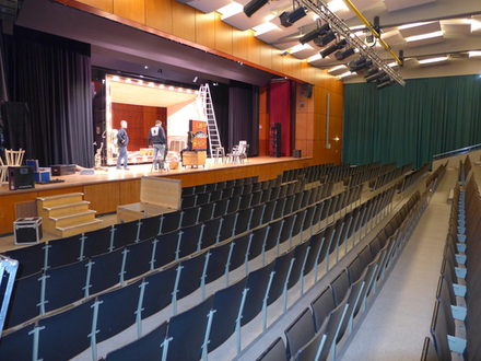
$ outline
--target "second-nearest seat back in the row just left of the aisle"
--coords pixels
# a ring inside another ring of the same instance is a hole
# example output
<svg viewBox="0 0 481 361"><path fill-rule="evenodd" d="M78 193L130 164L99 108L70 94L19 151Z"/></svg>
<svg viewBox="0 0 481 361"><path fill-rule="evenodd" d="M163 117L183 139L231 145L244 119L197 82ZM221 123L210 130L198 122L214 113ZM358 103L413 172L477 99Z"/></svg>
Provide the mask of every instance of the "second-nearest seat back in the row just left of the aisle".
<svg viewBox="0 0 481 361"><path fill-rule="evenodd" d="M313 314L305 308L284 330L288 359L294 357L316 334Z"/></svg>

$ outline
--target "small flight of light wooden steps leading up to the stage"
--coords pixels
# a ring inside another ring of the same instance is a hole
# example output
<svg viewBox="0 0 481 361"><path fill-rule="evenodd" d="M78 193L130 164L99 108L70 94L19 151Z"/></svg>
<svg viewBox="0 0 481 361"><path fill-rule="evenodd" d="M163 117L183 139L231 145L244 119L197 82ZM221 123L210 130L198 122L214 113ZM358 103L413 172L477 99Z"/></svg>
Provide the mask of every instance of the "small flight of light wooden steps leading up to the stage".
<svg viewBox="0 0 481 361"><path fill-rule="evenodd" d="M83 200L83 193L38 197L37 212L43 218L44 230L60 237L68 237L103 225L95 218L96 211L89 209L90 201Z"/></svg>

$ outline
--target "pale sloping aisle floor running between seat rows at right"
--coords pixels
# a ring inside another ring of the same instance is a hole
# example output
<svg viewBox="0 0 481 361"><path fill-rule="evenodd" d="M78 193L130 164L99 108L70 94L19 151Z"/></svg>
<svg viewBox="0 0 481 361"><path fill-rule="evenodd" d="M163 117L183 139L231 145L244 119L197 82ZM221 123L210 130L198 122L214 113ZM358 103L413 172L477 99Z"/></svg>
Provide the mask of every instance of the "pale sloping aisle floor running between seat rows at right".
<svg viewBox="0 0 481 361"><path fill-rule="evenodd" d="M447 170L411 240L341 360L419 360L430 335L446 240L449 190L457 171Z"/></svg>

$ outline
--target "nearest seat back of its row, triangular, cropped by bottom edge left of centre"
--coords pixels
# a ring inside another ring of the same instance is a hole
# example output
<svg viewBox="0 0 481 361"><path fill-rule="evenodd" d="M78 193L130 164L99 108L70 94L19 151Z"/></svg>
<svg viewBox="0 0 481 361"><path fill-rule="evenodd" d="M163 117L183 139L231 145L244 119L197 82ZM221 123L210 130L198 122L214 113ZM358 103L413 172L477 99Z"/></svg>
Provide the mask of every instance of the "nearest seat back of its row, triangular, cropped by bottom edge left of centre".
<svg viewBox="0 0 481 361"><path fill-rule="evenodd" d="M163 347L161 346L167 334L167 327L168 323L164 322L161 326L133 342L109 352L105 361L161 360L163 352Z"/></svg>

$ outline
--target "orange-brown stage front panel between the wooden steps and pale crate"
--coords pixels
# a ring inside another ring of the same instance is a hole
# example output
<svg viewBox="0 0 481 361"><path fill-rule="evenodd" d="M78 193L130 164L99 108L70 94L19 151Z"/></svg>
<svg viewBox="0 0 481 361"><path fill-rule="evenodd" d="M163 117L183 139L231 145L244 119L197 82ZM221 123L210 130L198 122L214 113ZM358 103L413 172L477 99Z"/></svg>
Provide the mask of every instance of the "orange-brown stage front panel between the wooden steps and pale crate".
<svg viewBox="0 0 481 361"><path fill-rule="evenodd" d="M119 182L97 183L83 187L84 199L91 202L91 209L98 214L117 211L120 202Z"/></svg>

